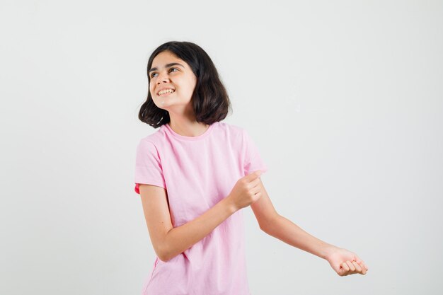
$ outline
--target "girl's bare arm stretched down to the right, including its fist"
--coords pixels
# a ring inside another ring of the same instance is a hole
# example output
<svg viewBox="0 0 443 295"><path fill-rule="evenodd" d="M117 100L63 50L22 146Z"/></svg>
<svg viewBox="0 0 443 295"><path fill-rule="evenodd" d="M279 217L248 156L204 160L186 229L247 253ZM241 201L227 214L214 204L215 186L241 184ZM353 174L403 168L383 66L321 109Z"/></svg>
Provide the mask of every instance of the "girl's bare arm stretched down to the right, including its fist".
<svg viewBox="0 0 443 295"><path fill-rule="evenodd" d="M367 265L355 253L311 236L297 224L278 214L261 180L260 185L263 187L262 196L251 204L251 209L262 231L288 245L328 260L330 266L340 276L355 273L366 274Z"/></svg>

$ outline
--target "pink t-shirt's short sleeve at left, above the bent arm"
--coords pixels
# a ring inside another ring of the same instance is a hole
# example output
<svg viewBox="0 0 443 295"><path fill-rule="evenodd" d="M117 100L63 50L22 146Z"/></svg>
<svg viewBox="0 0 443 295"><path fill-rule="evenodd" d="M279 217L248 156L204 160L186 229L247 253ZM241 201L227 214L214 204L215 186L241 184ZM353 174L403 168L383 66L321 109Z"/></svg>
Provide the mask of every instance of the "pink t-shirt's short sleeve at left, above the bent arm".
<svg viewBox="0 0 443 295"><path fill-rule="evenodd" d="M166 189L159 151L149 140L142 139L137 146L134 180L134 190L137 194L140 194L139 184L156 185Z"/></svg>

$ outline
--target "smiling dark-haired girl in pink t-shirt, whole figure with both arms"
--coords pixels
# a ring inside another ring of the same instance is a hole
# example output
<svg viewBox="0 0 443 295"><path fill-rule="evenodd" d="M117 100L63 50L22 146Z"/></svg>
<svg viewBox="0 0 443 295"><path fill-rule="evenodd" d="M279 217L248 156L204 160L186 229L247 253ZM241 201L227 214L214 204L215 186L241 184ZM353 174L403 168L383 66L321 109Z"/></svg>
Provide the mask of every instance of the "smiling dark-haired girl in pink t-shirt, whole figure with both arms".
<svg viewBox="0 0 443 295"><path fill-rule="evenodd" d="M243 216L326 259L340 276L365 274L355 253L325 243L278 214L260 174L267 166L245 129L222 122L231 103L208 54L166 42L149 57L139 120L159 130L139 141L135 192L157 255L149 295L248 295Z"/></svg>

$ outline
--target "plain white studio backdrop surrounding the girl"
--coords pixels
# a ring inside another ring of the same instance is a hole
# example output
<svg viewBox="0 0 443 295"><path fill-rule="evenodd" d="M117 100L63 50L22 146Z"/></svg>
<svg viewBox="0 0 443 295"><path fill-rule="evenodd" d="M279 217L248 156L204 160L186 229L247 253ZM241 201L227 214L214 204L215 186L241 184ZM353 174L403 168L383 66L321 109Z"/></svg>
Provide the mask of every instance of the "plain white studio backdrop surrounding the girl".
<svg viewBox="0 0 443 295"><path fill-rule="evenodd" d="M369 266L339 277L248 207L253 295L442 290L442 1L1 0L0 30L0 294L141 293L137 116L170 40L216 64L277 212Z"/></svg>

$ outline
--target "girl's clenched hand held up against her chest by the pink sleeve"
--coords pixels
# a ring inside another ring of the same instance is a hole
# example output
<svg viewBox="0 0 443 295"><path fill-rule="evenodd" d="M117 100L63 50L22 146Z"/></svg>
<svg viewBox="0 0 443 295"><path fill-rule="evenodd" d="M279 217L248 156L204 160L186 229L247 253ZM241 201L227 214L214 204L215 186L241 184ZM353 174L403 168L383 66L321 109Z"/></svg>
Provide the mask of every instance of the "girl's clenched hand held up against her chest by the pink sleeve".
<svg viewBox="0 0 443 295"><path fill-rule="evenodd" d="M260 185L261 173L261 170L255 170L253 173L237 180L228 196L236 210L248 207L260 199L262 195L262 187Z"/></svg>

